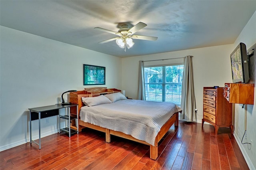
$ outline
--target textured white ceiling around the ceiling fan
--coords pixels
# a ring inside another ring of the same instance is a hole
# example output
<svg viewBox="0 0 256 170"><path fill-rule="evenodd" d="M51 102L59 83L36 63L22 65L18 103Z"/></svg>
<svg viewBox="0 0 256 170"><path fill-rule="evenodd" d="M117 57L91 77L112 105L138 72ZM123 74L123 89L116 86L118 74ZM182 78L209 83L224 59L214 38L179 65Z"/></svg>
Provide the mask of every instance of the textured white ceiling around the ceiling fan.
<svg viewBox="0 0 256 170"><path fill-rule="evenodd" d="M131 57L234 43L256 0L0 0L0 25L93 51ZM118 23L148 26L130 49L118 47Z"/></svg>

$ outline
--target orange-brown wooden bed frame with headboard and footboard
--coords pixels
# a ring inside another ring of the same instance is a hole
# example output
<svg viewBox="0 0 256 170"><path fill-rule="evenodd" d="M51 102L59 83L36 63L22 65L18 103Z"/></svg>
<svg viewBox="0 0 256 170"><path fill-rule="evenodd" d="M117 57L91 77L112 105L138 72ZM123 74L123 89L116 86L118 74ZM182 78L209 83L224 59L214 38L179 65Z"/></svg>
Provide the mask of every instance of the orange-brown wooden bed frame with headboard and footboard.
<svg viewBox="0 0 256 170"><path fill-rule="evenodd" d="M99 130L101 132L106 133L106 142L110 142L110 134L119 136L122 138L126 138L129 140L133 140L142 144L146 144L150 146L150 158L156 160L158 157L158 142L162 139L162 137L166 134L166 132L170 129L170 127L174 124L174 126L178 126L178 113L175 113L160 129L160 132L158 132L158 135L155 139L155 146L152 146L151 144L148 144L147 142L143 140L138 140L131 135L124 134L122 132L110 130L107 128L99 127L96 125L92 125L90 123L86 123L84 121L80 120L79 113L81 107L84 106L84 103L82 103L82 97L95 97L102 94L110 94L110 93L118 93L121 92L121 90L118 89L107 89L106 87L92 87L87 88L84 91L77 91L77 92L70 92L70 103L78 104L78 131L82 131L82 128L88 127L95 130ZM76 107L70 108L71 115L76 115ZM74 123L72 123L74 125ZM77 129L75 126L71 126L71 128Z"/></svg>

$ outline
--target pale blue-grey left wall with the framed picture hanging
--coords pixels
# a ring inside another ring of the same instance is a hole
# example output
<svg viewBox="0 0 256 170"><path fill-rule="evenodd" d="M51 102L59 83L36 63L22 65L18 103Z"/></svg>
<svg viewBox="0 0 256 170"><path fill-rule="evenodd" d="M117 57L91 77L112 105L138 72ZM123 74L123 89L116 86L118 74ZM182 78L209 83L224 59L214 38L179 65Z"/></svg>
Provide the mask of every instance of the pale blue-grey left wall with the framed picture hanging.
<svg viewBox="0 0 256 170"><path fill-rule="evenodd" d="M121 89L119 57L3 26L0 36L1 151L29 142L28 108L60 103L64 91L94 87L83 85L83 64L106 67L102 87ZM41 122L42 136L58 132L57 117ZM38 138L38 121L32 121L32 130Z"/></svg>

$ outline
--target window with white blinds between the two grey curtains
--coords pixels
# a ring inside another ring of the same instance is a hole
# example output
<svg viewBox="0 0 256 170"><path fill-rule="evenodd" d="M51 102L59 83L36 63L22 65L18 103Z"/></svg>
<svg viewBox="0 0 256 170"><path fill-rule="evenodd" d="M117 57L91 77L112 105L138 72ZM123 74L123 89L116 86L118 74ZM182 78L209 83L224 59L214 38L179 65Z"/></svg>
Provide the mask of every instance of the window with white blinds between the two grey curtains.
<svg viewBox="0 0 256 170"><path fill-rule="evenodd" d="M147 101L166 101L180 106L184 65L144 67Z"/></svg>

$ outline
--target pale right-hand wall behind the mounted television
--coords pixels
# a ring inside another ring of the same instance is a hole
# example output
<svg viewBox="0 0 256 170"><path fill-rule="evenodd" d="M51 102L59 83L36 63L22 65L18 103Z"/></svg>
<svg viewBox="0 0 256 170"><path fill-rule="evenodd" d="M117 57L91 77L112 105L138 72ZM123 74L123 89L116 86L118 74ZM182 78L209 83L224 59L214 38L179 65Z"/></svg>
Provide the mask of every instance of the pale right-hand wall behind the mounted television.
<svg viewBox="0 0 256 170"><path fill-rule="evenodd" d="M252 15L251 19L248 21L235 43L233 44L233 49L240 43L246 44L247 49L256 43L256 12ZM255 49L256 50L256 49ZM256 51L254 51L254 61L256 61ZM254 63L256 65L256 63ZM256 80L256 77L254 77ZM250 82L255 83L255 82ZM235 125L234 125L234 136L242 150L246 162L248 163L250 169L256 169L256 87L254 87L254 105L247 105L247 130L246 138L244 137L243 142L252 143L250 147L249 144L241 144L242 137L244 135L244 123L245 123L245 109L242 109L241 104L235 104ZM247 140L246 140L247 139ZM252 140L252 142L251 142Z"/></svg>

